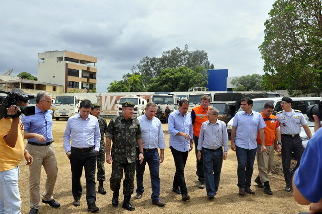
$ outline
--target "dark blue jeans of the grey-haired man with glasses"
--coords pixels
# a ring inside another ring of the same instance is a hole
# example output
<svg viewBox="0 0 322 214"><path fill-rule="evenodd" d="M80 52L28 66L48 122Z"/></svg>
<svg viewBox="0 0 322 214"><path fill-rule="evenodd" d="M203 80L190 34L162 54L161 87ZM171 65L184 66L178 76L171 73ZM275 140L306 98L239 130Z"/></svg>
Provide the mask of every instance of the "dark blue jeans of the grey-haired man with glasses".
<svg viewBox="0 0 322 214"><path fill-rule="evenodd" d="M202 151L207 196L214 196L218 191L220 182L223 150L221 148L221 150L212 151L202 148Z"/></svg>

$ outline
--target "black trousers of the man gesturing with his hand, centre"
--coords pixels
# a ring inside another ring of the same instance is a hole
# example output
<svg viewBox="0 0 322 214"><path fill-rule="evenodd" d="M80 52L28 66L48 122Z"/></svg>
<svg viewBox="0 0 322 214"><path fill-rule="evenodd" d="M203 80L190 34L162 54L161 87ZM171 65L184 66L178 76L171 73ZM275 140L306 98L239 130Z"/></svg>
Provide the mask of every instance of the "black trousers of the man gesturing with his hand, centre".
<svg viewBox="0 0 322 214"><path fill-rule="evenodd" d="M172 187L175 189L178 189L178 187L180 187L181 195L186 195L188 194L188 191L185 181L184 169L186 166L189 152L180 152L174 149L173 147L170 147L170 149L176 166L176 173L173 178Z"/></svg>

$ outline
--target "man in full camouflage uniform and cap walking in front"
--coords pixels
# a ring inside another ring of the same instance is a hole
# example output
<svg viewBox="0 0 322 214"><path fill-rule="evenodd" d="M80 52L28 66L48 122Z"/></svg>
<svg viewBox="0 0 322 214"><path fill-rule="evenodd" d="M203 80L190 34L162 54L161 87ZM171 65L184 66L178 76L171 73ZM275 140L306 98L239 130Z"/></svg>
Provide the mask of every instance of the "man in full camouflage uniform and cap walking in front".
<svg viewBox="0 0 322 214"><path fill-rule="evenodd" d="M122 114L114 117L107 128L106 137L106 162L112 164L110 178L111 190L113 193L112 205L119 204L119 189L123 177L124 201L122 207L133 211L135 208L130 204L131 195L134 191L134 175L136 169L136 147L135 139L140 150L140 164L144 159L141 127L138 119L132 118L134 103L125 101L122 103ZM111 140L113 140L112 154Z"/></svg>

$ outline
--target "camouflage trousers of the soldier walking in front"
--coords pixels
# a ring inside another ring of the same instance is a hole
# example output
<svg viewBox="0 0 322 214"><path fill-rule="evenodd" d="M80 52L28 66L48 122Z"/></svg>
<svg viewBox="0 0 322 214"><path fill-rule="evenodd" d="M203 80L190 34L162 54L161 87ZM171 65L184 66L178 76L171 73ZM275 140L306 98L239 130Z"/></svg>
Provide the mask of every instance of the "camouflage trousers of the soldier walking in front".
<svg viewBox="0 0 322 214"><path fill-rule="evenodd" d="M133 163L116 163L112 162L112 174L110 178L111 190L113 192L119 191L121 187L121 179L123 178L123 194L132 195L134 191L134 177L136 170L136 162Z"/></svg>

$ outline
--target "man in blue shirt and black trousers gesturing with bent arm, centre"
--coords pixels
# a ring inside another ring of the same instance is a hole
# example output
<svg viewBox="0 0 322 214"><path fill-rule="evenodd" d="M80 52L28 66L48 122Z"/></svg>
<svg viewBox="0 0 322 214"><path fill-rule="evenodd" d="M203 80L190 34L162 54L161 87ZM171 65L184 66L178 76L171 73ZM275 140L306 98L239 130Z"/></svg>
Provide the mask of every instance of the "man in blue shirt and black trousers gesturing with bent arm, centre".
<svg viewBox="0 0 322 214"><path fill-rule="evenodd" d="M188 151L190 152L193 148L192 119L188 113L188 108L188 100L180 100L178 110L172 112L168 119L168 132L170 134L169 147L176 166L172 191L181 194L183 201L190 199L184 169L188 158Z"/></svg>

